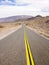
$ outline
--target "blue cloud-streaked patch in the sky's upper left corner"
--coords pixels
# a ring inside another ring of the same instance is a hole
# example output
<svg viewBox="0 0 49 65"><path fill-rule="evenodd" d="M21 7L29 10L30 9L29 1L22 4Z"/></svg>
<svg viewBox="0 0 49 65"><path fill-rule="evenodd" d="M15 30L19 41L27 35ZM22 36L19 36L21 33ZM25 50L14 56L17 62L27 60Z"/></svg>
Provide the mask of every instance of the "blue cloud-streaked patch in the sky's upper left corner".
<svg viewBox="0 0 49 65"><path fill-rule="evenodd" d="M2 0L0 1L0 5L15 5L15 6L27 6L28 3L19 2L18 0Z"/></svg>

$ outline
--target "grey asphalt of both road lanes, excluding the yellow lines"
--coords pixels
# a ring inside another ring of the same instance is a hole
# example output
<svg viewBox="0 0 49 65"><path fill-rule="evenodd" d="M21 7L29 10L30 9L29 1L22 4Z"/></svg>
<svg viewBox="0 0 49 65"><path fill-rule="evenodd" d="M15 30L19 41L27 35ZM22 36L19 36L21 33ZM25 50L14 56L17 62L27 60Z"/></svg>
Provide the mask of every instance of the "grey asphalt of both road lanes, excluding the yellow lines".
<svg viewBox="0 0 49 65"><path fill-rule="evenodd" d="M24 27L0 40L0 65L27 65ZM25 27L35 65L49 65L49 40Z"/></svg>

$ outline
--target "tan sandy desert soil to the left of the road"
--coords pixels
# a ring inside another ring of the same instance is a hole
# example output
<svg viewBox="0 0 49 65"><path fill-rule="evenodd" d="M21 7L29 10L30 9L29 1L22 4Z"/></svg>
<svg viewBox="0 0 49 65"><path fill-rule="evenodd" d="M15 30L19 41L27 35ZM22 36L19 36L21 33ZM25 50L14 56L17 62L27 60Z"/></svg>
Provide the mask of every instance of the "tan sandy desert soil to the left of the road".
<svg viewBox="0 0 49 65"><path fill-rule="evenodd" d="M12 30L17 29L20 25L21 22L0 23L0 37Z"/></svg>

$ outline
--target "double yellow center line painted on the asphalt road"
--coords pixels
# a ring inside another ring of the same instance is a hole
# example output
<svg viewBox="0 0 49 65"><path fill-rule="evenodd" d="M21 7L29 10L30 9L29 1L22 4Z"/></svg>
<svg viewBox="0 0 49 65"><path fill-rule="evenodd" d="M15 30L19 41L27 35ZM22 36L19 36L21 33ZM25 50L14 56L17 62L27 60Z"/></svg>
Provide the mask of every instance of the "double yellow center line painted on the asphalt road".
<svg viewBox="0 0 49 65"><path fill-rule="evenodd" d="M26 48L26 60L27 60L27 65L34 65L34 60L32 57L30 45L27 39L26 31L24 29L24 41L25 41L25 48Z"/></svg>

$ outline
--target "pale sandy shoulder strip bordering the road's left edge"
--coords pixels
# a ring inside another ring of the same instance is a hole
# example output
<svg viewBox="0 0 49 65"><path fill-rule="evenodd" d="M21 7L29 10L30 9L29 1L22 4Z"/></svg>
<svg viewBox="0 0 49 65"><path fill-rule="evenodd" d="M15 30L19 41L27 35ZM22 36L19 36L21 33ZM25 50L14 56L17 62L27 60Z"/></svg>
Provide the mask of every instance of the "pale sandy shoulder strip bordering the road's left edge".
<svg viewBox="0 0 49 65"><path fill-rule="evenodd" d="M3 32L3 33L0 33L0 40L4 39L4 38L7 37L8 35L14 33L16 30L18 30L18 29L21 28L21 27L22 27L22 25L19 25L19 26L17 26L17 27L8 29L8 30L6 30L6 31Z"/></svg>

